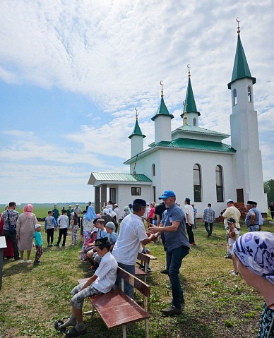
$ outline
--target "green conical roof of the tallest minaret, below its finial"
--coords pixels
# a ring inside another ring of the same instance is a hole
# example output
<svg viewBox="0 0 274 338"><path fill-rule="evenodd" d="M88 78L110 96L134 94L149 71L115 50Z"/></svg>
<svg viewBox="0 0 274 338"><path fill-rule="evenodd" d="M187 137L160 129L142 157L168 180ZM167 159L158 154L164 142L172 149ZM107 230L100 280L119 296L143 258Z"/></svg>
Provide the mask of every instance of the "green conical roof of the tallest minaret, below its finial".
<svg viewBox="0 0 274 338"><path fill-rule="evenodd" d="M246 55L244 54L244 48L242 46L240 35L238 34L237 49L234 59L234 67L232 72L231 82L227 84L228 89L231 89L232 83L242 78L251 78L253 84L256 83L256 78L251 76L249 71L249 65L246 61Z"/></svg>

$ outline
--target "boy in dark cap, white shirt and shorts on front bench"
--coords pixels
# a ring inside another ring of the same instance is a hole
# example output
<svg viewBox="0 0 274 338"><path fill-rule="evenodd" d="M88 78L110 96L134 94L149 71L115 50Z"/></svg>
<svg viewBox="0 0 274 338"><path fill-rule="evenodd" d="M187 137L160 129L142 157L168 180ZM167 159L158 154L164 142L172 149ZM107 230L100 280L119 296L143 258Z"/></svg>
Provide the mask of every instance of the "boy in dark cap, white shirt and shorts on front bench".
<svg viewBox="0 0 274 338"><path fill-rule="evenodd" d="M72 289L71 294L71 317L66 322L57 320L54 327L56 330L66 333L66 337L78 337L85 334L86 328L83 323L83 302L85 298L95 294L107 294L115 284L117 277L117 261L109 253L110 243L107 237L96 239L95 246L98 255L102 258L99 267L93 277L88 279L85 284L80 284ZM65 330L67 326L71 329Z"/></svg>

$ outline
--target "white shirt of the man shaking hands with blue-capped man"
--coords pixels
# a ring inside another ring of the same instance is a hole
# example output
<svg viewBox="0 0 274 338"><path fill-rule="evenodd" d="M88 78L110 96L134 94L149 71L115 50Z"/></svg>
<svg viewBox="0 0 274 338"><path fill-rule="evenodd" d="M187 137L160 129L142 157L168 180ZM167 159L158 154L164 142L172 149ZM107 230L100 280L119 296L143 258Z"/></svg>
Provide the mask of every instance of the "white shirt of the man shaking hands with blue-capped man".
<svg viewBox="0 0 274 338"><path fill-rule="evenodd" d="M140 242L147 238L141 217L135 214L127 215L121 222L112 255L119 263L135 265Z"/></svg>

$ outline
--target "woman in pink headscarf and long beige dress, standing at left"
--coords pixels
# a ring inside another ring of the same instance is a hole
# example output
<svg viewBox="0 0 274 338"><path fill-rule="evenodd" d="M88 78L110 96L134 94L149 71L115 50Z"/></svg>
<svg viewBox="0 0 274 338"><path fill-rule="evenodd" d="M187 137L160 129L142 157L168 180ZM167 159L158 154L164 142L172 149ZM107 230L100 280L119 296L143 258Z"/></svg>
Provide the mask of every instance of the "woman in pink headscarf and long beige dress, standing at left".
<svg viewBox="0 0 274 338"><path fill-rule="evenodd" d="M27 251L27 263L30 263L30 251L32 249L33 236L35 234L35 224L38 223L37 218L32 214L33 205L27 204L23 207L21 214L16 222L16 236L18 239L18 249L20 251L20 263L24 262L24 251Z"/></svg>

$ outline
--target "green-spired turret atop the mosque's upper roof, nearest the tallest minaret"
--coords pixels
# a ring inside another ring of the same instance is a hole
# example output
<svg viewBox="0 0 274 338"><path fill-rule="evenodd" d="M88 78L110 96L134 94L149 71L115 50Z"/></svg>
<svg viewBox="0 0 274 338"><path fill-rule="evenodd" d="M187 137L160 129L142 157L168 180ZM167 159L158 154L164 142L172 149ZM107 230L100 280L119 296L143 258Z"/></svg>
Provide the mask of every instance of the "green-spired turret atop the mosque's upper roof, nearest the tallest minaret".
<svg viewBox="0 0 274 338"><path fill-rule="evenodd" d="M201 115L199 111L197 111L196 103L193 95L193 90L191 86L191 74L190 74L190 66L189 68L189 83L187 85L186 90L186 99L184 101L184 112L181 114L181 118L183 119L183 126L185 124L189 124L191 126L199 126L199 116ZM186 114L185 114L186 113ZM187 119L186 119L187 116Z"/></svg>

